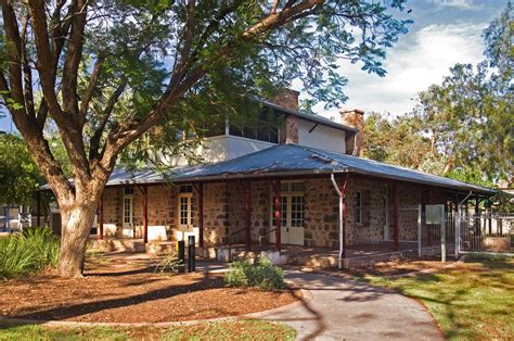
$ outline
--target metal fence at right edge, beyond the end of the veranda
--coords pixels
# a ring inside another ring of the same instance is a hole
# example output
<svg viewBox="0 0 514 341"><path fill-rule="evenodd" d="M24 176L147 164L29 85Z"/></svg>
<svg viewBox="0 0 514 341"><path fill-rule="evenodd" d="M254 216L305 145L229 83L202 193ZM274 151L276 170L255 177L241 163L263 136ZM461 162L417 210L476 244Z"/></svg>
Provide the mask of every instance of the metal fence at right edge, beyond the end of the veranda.
<svg viewBox="0 0 514 341"><path fill-rule="evenodd" d="M461 253L514 252L514 213L463 213L458 228Z"/></svg>

